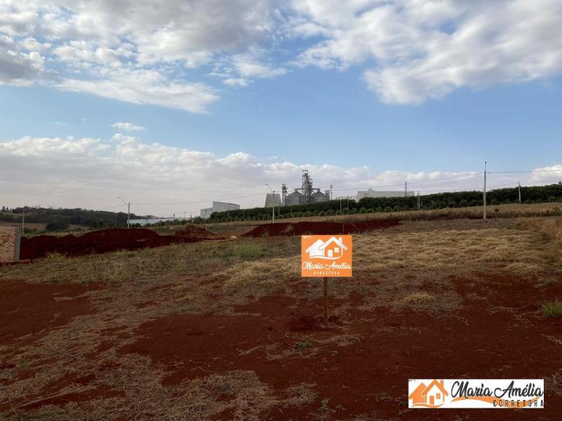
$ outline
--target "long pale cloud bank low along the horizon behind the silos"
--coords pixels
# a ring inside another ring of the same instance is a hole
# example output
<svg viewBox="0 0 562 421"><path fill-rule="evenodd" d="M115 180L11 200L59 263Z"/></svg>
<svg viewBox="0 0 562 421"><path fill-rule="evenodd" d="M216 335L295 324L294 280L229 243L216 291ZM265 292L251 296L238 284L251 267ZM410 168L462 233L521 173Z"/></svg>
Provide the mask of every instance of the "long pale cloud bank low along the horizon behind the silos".
<svg viewBox="0 0 562 421"><path fill-rule="evenodd" d="M278 159L259 159L246 152L215 156L161 143L144 143L140 139L115 134L111 139L94 138L25 138L0 142L0 189L8 206L41 203L44 206L81 206L103 208L115 203L115 196L126 196L131 203L178 203L210 201L237 196L242 206L262 206L268 182L275 189L282 183L297 187L301 170L313 175L315 187L334 185L334 196L353 196L357 189L377 187L421 192L481 189L482 175L467 172L382 171L368 166L344 168L331 163L312 165ZM540 169L562 170L561 164ZM8 180L18 180L11 182ZM547 184L562 180L561 173L517 175L491 174L488 186L518 181L523 185ZM396 185L395 187L380 186ZM34 203L30 203L33 197ZM184 210L197 213L207 203L178 206L133 207L135 213L171 215Z"/></svg>

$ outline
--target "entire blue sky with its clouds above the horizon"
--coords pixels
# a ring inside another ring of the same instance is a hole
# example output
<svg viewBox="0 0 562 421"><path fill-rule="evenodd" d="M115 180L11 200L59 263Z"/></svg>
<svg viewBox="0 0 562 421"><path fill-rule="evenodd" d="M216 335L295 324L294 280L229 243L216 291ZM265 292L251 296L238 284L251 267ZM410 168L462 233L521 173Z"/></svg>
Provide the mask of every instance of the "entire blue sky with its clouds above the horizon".
<svg viewBox="0 0 562 421"><path fill-rule="evenodd" d="M10 207L558 182L562 2L0 0L0 128Z"/></svg>

